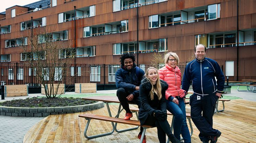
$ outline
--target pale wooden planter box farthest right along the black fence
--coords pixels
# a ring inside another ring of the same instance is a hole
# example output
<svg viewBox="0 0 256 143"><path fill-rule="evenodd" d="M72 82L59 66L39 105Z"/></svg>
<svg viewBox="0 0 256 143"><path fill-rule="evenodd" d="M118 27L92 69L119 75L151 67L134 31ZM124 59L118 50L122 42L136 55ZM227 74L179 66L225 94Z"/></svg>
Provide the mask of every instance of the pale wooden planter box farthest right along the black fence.
<svg viewBox="0 0 256 143"><path fill-rule="evenodd" d="M96 83L75 83L75 93L96 93Z"/></svg>

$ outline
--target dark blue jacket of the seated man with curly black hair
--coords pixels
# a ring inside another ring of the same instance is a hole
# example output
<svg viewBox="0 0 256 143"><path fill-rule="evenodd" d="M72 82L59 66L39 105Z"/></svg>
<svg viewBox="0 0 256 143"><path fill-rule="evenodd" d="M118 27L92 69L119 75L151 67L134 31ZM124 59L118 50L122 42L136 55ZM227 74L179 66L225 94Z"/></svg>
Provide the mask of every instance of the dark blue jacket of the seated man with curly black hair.
<svg viewBox="0 0 256 143"><path fill-rule="evenodd" d="M138 67L137 67L138 68ZM139 96L139 90L135 90L136 86L140 86L141 80L143 79L144 71L140 68L138 76L136 74L136 64L133 63L131 71L128 71L121 67L116 71L116 87L124 88L129 94L133 96Z"/></svg>

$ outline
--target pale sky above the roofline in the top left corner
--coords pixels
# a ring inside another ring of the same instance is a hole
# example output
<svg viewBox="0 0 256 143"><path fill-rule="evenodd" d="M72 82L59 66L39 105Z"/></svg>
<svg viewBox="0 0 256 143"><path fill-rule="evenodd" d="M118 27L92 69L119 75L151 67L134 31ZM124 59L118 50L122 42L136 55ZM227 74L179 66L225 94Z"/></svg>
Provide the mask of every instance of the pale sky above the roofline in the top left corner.
<svg viewBox="0 0 256 143"><path fill-rule="evenodd" d="M5 9L14 5L26 5L40 0L0 0L0 12L4 12Z"/></svg>

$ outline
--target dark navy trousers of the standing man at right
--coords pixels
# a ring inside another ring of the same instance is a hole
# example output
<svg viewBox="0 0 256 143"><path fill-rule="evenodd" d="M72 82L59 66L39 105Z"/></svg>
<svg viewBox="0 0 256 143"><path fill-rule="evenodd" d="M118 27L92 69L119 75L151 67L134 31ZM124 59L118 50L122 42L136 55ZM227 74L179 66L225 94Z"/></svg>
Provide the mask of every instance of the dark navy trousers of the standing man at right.
<svg viewBox="0 0 256 143"><path fill-rule="evenodd" d="M190 96L190 107L191 107L191 119L196 125L197 129L200 131L199 138L201 141L209 141L210 136L216 136L218 130L212 128L212 116L216 108L216 102L218 96L215 93L199 96L191 95Z"/></svg>

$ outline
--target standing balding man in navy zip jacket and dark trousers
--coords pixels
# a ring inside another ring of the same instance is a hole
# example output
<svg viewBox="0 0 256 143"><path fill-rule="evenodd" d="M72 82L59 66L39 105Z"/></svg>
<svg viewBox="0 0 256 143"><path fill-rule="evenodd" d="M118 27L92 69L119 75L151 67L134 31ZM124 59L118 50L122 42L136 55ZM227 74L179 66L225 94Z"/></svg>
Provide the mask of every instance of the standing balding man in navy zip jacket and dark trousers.
<svg viewBox="0 0 256 143"><path fill-rule="evenodd" d="M200 131L199 138L203 143L208 143L209 140L216 143L221 132L212 128L212 116L216 101L223 92L225 77L219 64L206 58L205 54L206 47L198 44L195 47L196 59L189 62L184 71L182 89L187 92L192 81L194 94L190 96L189 103L191 119Z"/></svg>

